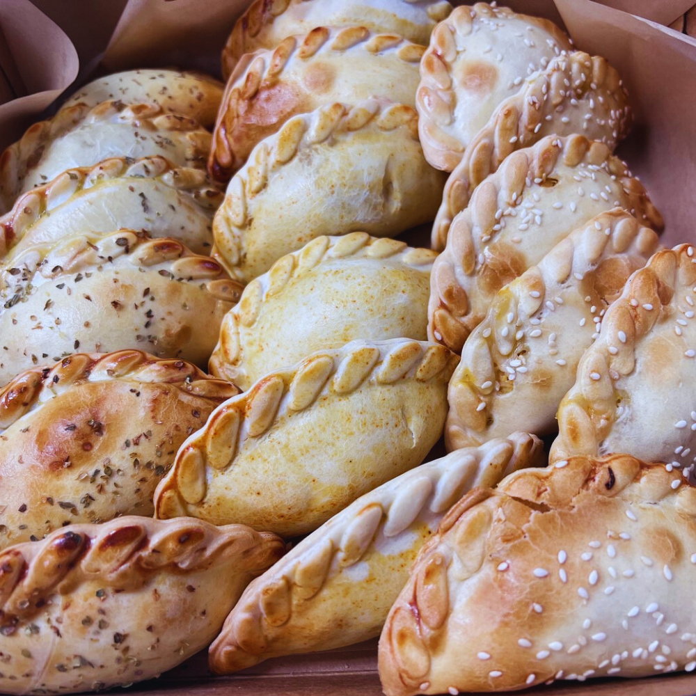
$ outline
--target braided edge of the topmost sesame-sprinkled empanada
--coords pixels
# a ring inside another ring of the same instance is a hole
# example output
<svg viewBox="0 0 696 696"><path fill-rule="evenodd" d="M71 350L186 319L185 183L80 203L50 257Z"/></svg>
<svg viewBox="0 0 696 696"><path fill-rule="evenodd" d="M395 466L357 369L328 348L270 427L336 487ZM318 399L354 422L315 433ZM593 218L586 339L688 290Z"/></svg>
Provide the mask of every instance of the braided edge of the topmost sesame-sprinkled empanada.
<svg viewBox="0 0 696 696"><path fill-rule="evenodd" d="M461 51L455 37L465 42L466 36L473 31L473 24L480 18L514 18L526 22L528 26L535 26L555 42L557 55L564 47L571 47L567 34L548 19L521 15L508 8L491 7L483 2L454 8L450 16L435 27L430 37L430 45L420 61L420 85L416 93L420 140L425 157L432 166L444 171L452 171L457 166L466 145L446 134L438 125L443 120L452 122L457 104L457 90L454 88L456 80L452 79L452 68ZM543 62L541 66L544 67ZM440 118L437 111L442 112L439 114Z"/></svg>

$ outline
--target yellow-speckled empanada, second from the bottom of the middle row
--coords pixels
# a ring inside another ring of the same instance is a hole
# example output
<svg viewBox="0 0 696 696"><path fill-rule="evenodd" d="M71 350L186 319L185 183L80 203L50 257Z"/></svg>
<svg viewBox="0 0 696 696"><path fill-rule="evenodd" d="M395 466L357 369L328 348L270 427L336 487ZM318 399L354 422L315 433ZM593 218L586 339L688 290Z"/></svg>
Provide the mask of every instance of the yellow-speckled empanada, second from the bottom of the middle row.
<svg viewBox="0 0 696 696"><path fill-rule="evenodd" d="M156 516L312 532L420 464L442 434L457 361L438 344L354 341L267 374L182 445Z"/></svg>

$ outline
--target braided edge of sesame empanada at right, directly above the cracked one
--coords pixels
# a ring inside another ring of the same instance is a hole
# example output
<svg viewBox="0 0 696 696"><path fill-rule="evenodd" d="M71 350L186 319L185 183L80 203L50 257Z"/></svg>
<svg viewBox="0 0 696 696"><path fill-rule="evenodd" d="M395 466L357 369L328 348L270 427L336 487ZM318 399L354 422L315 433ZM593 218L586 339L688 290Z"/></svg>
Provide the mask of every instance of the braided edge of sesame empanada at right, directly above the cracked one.
<svg viewBox="0 0 696 696"><path fill-rule="evenodd" d="M690 244L658 251L644 268L635 271L608 308L599 338L585 351L576 383L558 406L559 432L551 446L552 461L600 453L601 442L616 420L617 382L633 372L642 338L663 313L671 315L678 288L694 287L694 253Z"/></svg>

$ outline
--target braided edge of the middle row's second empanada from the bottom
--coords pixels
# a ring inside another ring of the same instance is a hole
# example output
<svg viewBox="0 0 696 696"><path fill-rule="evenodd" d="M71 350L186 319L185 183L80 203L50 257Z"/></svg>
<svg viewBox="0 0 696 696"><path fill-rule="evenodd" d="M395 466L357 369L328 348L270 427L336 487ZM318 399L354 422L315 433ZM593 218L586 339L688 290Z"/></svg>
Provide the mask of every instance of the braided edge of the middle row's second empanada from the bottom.
<svg viewBox="0 0 696 696"><path fill-rule="evenodd" d="M317 351L293 367L271 372L246 392L216 408L205 426L181 446L173 468L155 491L156 516L197 505L207 493L206 469L224 471L251 438L259 438L283 416L306 411L319 397L342 397L364 383L447 383L459 356L425 341L357 340ZM166 512L165 512L166 509ZM177 514L179 514L177 512ZM186 514L180 512L180 514Z"/></svg>

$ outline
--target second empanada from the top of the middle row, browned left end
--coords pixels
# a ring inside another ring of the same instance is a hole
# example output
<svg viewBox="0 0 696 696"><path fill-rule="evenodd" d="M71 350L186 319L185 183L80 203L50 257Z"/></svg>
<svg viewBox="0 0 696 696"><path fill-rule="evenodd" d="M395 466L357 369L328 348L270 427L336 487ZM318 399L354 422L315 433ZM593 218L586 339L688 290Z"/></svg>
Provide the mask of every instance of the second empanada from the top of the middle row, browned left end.
<svg viewBox="0 0 696 696"><path fill-rule="evenodd" d="M424 51L425 46L398 34L373 33L364 26L318 26L285 38L275 49L247 54L225 88L208 171L215 179L228 180L254 145L292 116L323 104L379 97L414 106Z"/></svg>

